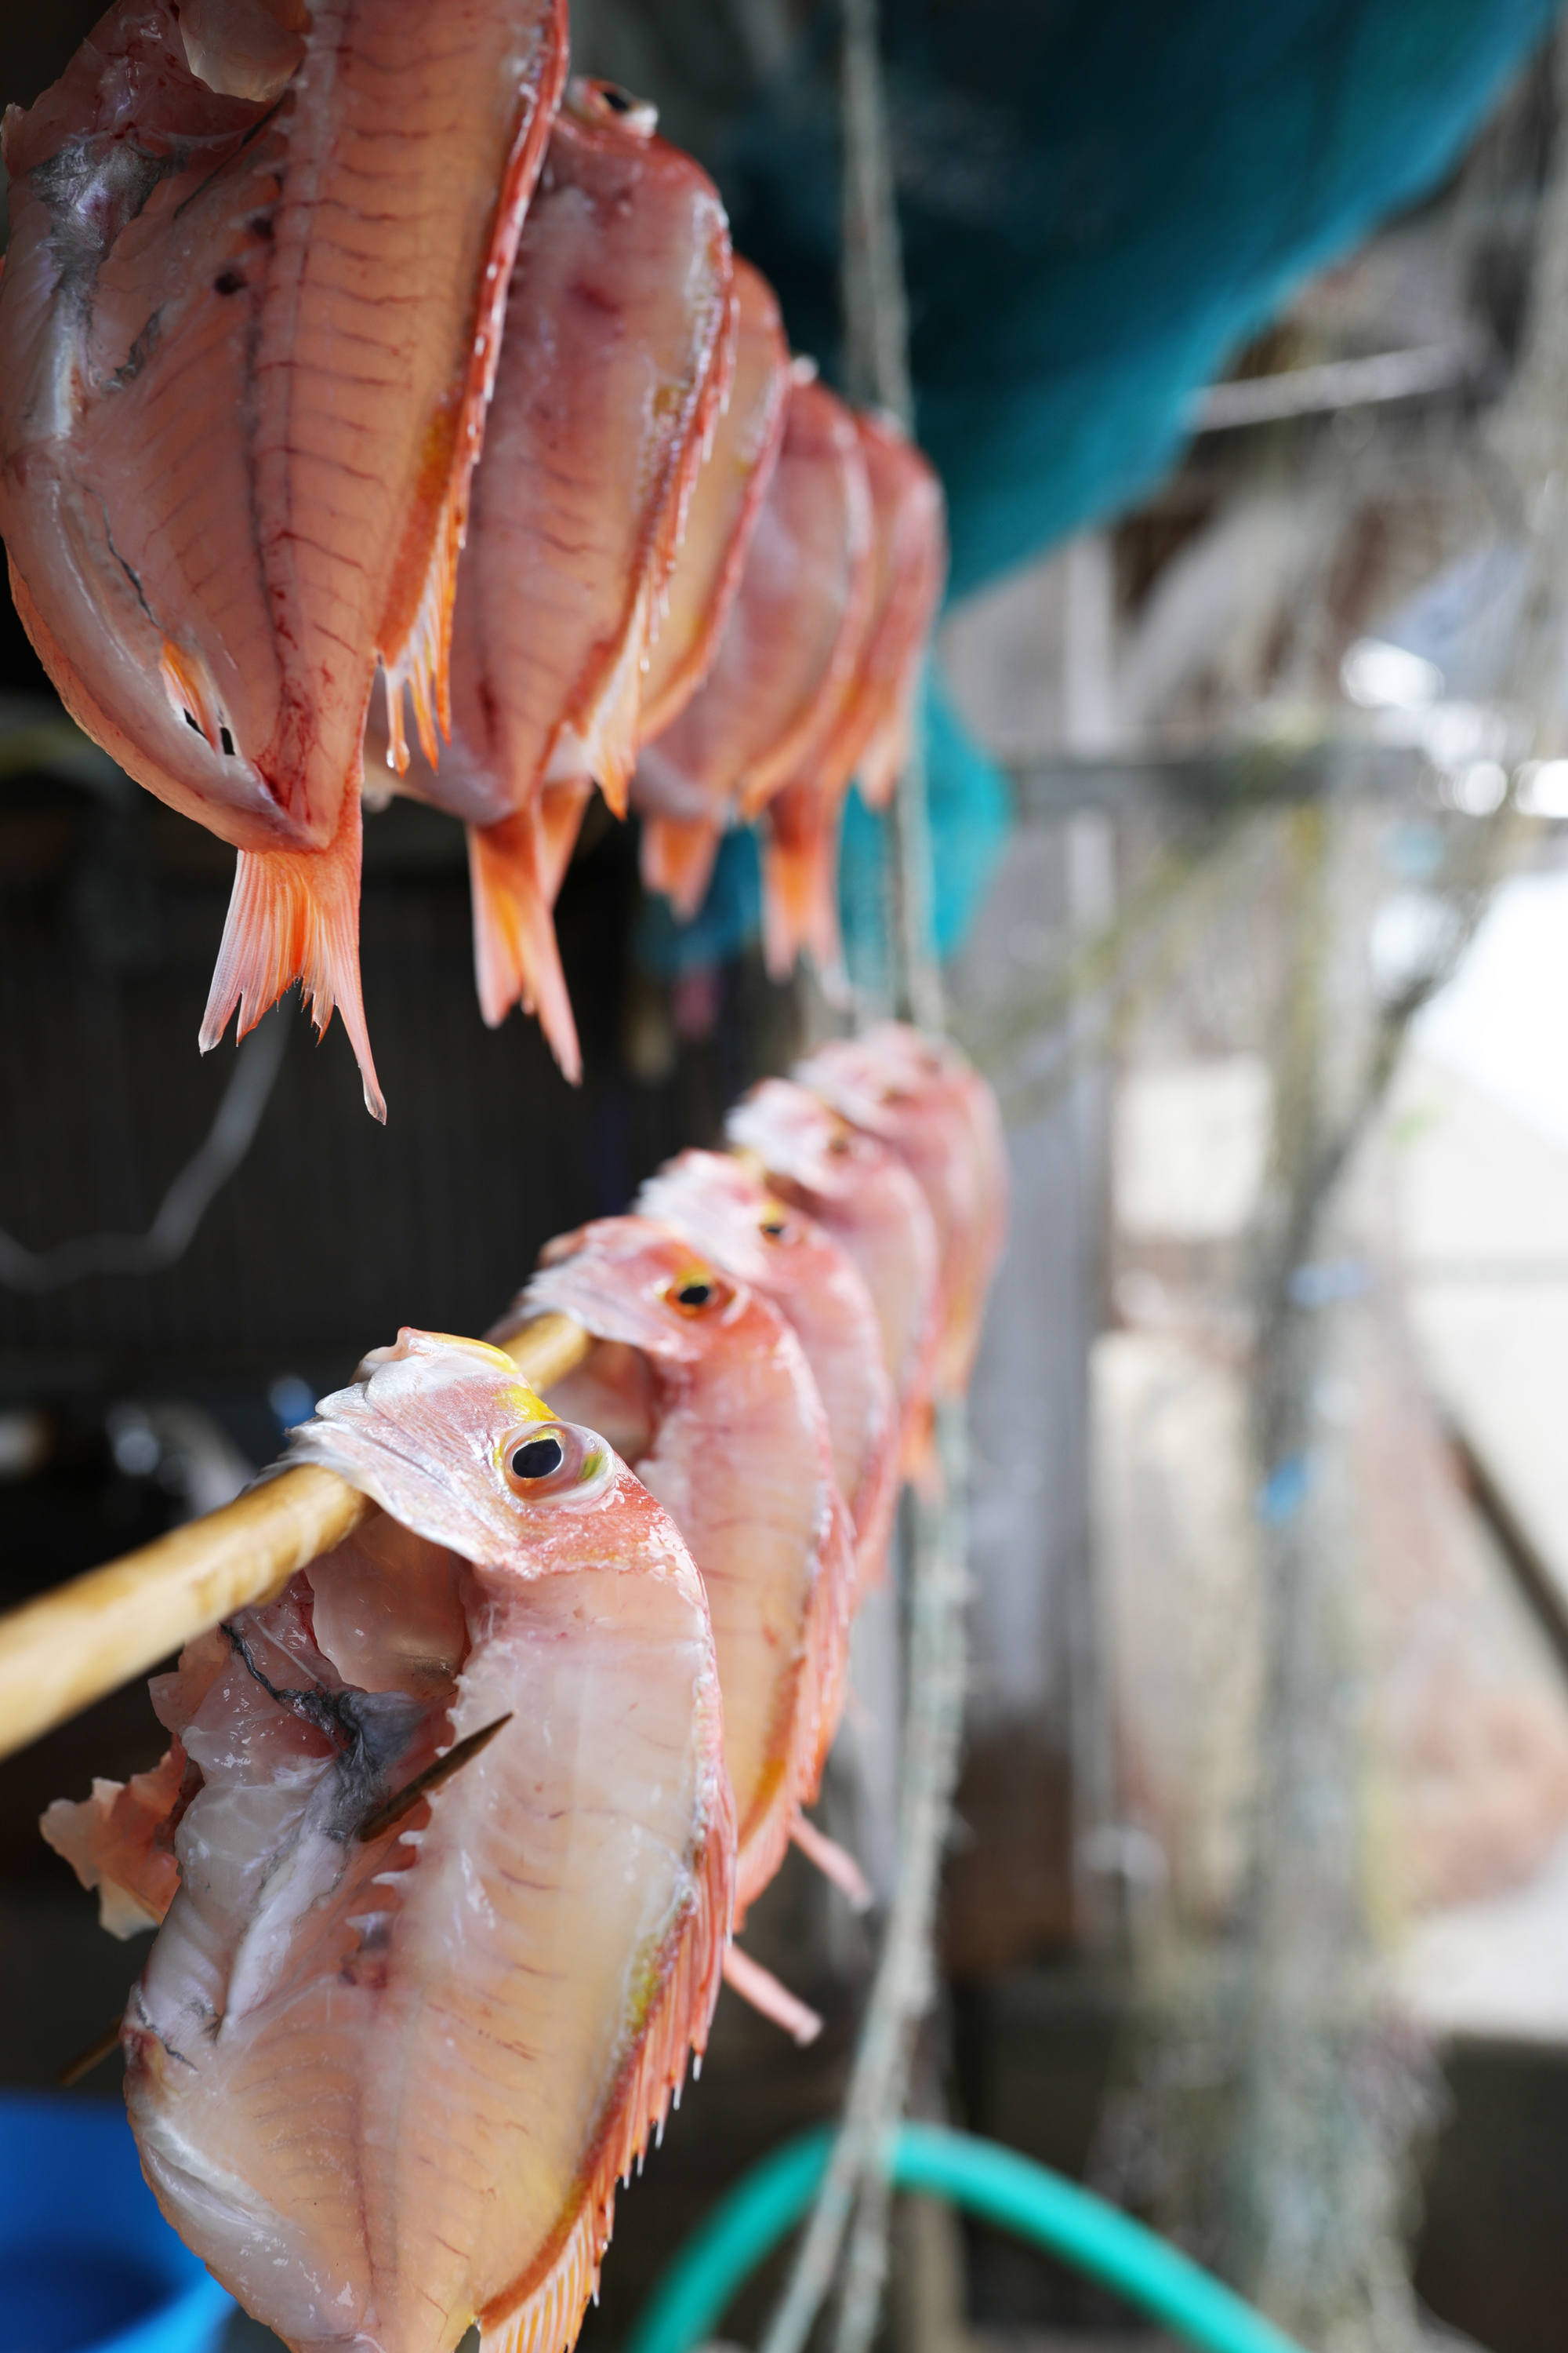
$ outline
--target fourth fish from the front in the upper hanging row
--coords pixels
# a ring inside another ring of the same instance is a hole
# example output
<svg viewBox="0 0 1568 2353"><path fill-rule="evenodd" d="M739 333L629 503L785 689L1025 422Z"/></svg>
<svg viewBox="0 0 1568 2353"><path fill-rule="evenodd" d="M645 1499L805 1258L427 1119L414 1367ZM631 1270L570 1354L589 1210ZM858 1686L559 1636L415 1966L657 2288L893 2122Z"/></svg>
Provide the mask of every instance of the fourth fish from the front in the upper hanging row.
<svg viewBox="0 0 1568 2353"><path fill-rule="evenodd" d="M811 767L870 621L872 494L856 419L795 362L785 431L708 678L644 744L644 880L689 920L719 838Z"/></svg>

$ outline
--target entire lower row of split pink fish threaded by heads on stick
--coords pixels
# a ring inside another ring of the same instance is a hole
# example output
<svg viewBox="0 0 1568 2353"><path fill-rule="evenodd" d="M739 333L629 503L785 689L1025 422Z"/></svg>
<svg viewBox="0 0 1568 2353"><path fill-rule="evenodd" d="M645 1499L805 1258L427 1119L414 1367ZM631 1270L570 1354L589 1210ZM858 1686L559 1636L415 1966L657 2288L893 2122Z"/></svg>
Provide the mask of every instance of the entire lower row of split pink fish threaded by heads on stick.
<svg viewBox="0 0 1568 2353"><path fill-rule="evenodd" d="M487 1341L404 1329L289 1442L378 1508L190 1642L153 1772L45 1835L120 1934L143 2169L292 2346L562 2353L616 2184L790 1845L900 1466L969 1372L994 1099L886 1024L552 1242ZM548 1402L505 1341L590 1337Z"/></svg>

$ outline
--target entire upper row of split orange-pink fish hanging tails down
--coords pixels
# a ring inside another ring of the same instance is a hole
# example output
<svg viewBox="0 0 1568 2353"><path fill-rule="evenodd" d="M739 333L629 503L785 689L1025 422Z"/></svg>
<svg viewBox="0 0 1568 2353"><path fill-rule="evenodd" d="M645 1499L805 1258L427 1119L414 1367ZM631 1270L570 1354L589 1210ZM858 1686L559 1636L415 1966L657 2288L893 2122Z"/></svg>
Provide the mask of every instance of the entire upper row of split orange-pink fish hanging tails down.
<svg viewBox="0 0 1568 2353"><path fill-rule="evenodd" d="M595 788L686 915L764 816L769 965L837 962L940 489L790 360L654 108L567 80L564 0L118 0L5 162L12 591L75 720L235 845L202 1047L299 979L383 1115L364 781L465 824L482 1014L567 1075Z"/></svg>

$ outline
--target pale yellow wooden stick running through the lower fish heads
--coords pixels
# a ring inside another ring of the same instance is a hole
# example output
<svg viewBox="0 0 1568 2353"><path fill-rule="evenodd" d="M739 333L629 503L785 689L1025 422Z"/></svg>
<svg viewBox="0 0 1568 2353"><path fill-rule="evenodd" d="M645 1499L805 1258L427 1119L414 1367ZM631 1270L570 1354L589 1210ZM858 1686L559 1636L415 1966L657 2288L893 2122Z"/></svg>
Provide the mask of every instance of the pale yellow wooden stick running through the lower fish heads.
<svg viewBox="0 0 1568 2353"><path fill-rule="evenodd" d="M588 1353L567 1315L503 1341L534 1388ZM0 1617L0 1758L143 1675L235 1609L266 1602L376 1511L336 1471L301 1464L155 1544Z"/></svg>

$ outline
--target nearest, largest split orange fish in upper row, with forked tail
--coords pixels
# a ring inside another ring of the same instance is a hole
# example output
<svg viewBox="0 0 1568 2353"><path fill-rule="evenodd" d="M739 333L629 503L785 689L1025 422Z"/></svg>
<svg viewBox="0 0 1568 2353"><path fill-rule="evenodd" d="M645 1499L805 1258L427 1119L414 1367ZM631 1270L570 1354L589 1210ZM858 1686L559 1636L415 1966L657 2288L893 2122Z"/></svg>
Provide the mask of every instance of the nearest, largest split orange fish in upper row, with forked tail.
<svg viewBox="0 0 1568 2353"><path fill-rule="evenodd" d="M0 534L71 715L240 852L200 1042L360 998L376 661L435 758L564 0L118 0L5 118Z"/></svg>

